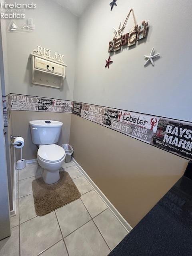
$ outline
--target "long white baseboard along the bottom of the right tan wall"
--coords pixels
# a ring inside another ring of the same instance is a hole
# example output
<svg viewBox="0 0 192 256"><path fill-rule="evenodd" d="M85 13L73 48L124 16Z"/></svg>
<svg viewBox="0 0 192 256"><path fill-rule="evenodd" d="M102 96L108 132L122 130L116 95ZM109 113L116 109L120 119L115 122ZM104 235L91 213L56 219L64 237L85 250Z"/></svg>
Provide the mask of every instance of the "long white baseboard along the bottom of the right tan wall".
<svg viewBox="0 0 192 256"><path fill-rule="evenodd" d="M132 230L132 227L130 226L130 224L128 224L128 222L123 218L120 212L118 212L115 206L108 200L108 198L106 198L103 192L98 188L98 186L92 181L92 179L88 176L88 174L86 174L83 168L78 164L78 162L76 162L76 160L73 157L72 157L72 162L78 168L78 170L84 175L84 177L91 184L91 186L96 190L98 195L106 203L106 205L112 211L112 213L116 216L116 218L121 222L121 224L124 226L127 232L130 232Z"/></svg>

